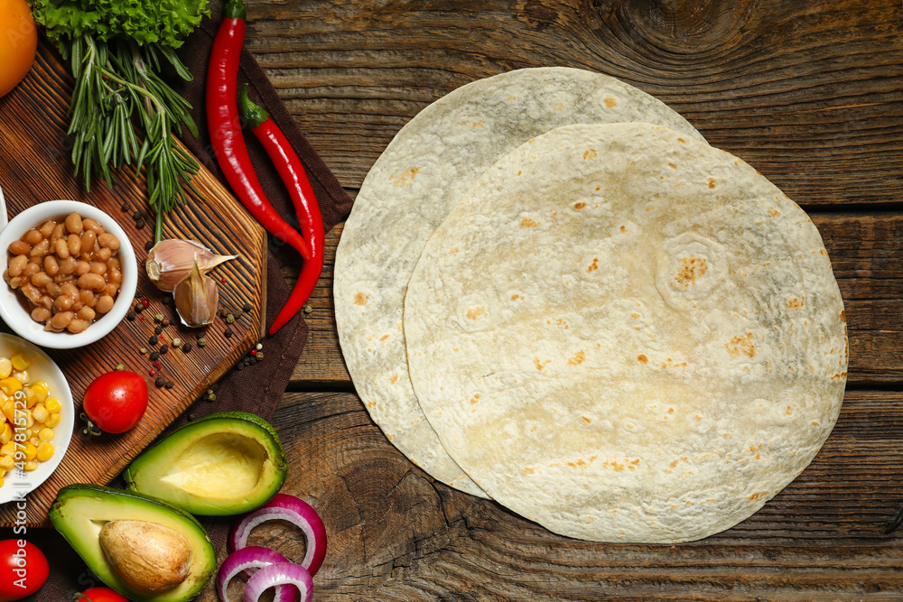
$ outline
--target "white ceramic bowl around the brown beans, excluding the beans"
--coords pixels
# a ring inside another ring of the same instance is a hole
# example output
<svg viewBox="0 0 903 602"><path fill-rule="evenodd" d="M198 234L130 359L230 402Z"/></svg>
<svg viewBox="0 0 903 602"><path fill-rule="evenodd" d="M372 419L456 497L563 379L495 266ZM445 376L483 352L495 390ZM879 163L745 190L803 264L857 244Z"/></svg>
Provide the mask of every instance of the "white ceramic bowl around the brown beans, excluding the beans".
<svg viewBox="0 0 903 602"><path fill-rule="evenodd" d="M71 332L49 332L42 324L32 320L28 301L22 293L16 292L6 282L0 280L0 318L22 338L32 341L41 347L54 349L72 349L85 347L99 338L105 337L116 324L126 317L132 301L135 300L135 288L138 285L138 266L135 262L135 249L119 227L116 220L102 210L80 203L76 200L48 200L25 209L9 221L0 231L0 273L4 273L9 262L10 243L18 240L25 232L38 227L50 218L65 218L76 211L82 218L96 220L112 235L119 239L119 261L122 264L122 286L116 295L113 309L101 316L87 329L78 334Z"/></svg>

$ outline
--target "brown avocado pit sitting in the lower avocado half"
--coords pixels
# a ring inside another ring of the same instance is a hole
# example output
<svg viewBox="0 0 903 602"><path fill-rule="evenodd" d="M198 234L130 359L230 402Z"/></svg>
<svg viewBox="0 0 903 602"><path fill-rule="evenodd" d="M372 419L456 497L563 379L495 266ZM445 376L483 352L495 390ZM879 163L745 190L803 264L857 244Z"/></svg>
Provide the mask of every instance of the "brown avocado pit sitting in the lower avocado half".
<svg viewBox="0 0 903 602"><path fill-rule="evenodd" d="M191 545L182 534L162 524L109 521L100 529L99 542L122 579L143 591L174 588L191 570Z"/></svg>

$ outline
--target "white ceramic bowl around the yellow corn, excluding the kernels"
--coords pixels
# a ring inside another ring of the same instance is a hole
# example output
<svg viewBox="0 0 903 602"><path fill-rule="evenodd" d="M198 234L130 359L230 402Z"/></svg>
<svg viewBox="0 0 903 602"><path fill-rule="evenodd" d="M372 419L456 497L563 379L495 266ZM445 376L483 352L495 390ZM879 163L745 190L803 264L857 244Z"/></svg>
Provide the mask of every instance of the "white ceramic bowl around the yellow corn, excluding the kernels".
<svg viewBox="0 0 903 602"><path fill-rule="evenodd" d="M32 360L28 366L29 381L36 383L44 381L50 389L51 397L60 401L60 423L53 427L53 455L46 462L39 462L38 468L31 472L20 473L15 468L6 473L4 484L0 486L0 504L5 504L14 499L22 499L23 495L32 492L41 485L51 473L60 466L66 449L69 449L72 440L72 431L75 428L75 404L72 403L72 392L66 376L62 374L60 366L42 351L22 338L14 337L6 333L0 333L0 356L12 357L17 351L22 351ZM5 419L4 419L5 420ZM25 503L28 503L27 497Z"/></svg>

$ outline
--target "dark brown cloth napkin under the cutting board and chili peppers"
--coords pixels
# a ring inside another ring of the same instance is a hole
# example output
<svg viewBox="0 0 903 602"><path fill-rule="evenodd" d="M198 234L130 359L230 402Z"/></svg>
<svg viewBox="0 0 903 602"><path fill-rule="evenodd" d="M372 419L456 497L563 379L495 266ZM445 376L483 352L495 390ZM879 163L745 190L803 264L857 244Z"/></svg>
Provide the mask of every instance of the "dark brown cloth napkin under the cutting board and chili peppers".
<svg viewBox="0 0 903 602"><path fill-rule="evenodd" d="M175 86L177 92L188 99L191 106L191 116L194 118L200 130L200 136L194 138L185 132L182 142L188 146L191 153L212 171L220 181L228 186L219 165L209 146L207 133L207 118L204 115L204 88L207 79L207 64L209 62L210 47L216 36L217 23L205 19L200 29L194 32L179 51L185 65L194 75L194 80ZM173 80L174 81L174 80ZM247 51L241 53L241 67L238 73L238 82L248 84L249 95L269 112L275 124L284 132L292 144L298 156L301 157L304 167L307 169L317 201L320 204L323 215L323 223L326 230L335 226L341 219L348 216L351 210L351 199L342 189L338 180L322 162L317 153L312 149L304 135L294 125L292 116L288 114L282 101L276 94L275 88L266 79L254 57ZM294 216L291 199L284 188L282 181L273 168L263 148L257 144L253 135L246 134L248 152L264 187L266 195L273 207L290 224L297 227L298 220ZM284 302L288 299L289 288L286 285L281 268L284 259L288 261L301 261L293 252L281 249L281 241L270 239L270 252L267 260L266 274L266 318L267 327L275 319ZM283 252L280 253L280 250ZM172 429L194 418L198 418L211 412L227 412L231 410L244 410L254 412L265 419L270 419L279 401L285 392L285 387L292 375L293 368L301 356L304 344L307 341L307 323L299 315L286 324L273 337L263 340L265 348L264 361L255 366L247 366L242 371L232 370L219 382L217 398L214 403L203 399L193 403L182 417L172 424L172 427L163 433L165 436ZM116 484L114 484L116 485ZM217 548L221 548L226 541L228 526L234 519L225 517L221 519L203 519L202 523L208 528L211 538ZM20 534L14 534L12 529L0 529L0 539L19 538ZM47 556L50 562L51 575L41 590L28 600L41 600L46 602L62 602L71 600L72 595L94 586L102 586L85 567L84 562L72 551L62 537L52 529L29 529L26 533L28 541L37 545Z"/></svg>

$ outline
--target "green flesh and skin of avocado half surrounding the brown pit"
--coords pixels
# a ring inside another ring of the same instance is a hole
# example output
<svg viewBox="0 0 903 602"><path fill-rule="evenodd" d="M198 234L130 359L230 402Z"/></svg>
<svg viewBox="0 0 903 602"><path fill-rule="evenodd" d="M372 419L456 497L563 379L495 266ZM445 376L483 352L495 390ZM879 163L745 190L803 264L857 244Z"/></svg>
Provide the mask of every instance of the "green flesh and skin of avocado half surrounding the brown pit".
<svg viewBox="0 0 903 602"><path fill-rule="evenodd" d="M136 602L184 602L197 596L217 569L217 555L204 527L191 514L162 500L96 485L63 487L51 505L51 522L98 578ZM152 593L130 586L107 559L100 531L111 521L161 524L191 547L188 577L174 588Z"/></svg>

